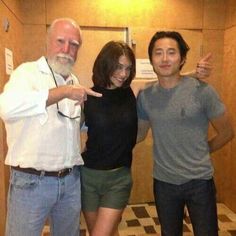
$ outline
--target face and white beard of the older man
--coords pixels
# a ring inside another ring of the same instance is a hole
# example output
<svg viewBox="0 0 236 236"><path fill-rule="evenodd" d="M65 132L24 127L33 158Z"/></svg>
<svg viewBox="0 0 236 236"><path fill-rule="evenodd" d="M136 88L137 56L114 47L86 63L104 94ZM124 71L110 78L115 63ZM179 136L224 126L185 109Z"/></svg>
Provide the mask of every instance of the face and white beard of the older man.
<svg viewBox="0 0 236 236"><path fill-rule="evenodd" d="M47 58L52 69L68 76L81 44L77 28L66 21L57 22L48 35Z"/></svg>

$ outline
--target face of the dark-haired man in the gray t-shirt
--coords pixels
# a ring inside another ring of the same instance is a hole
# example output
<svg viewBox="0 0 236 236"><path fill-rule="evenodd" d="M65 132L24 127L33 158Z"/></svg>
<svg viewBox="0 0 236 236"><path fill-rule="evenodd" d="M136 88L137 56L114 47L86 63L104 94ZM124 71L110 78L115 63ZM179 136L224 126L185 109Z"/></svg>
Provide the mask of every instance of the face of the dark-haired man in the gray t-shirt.
<svg viewBox="0 0 236 236"><path fill-rule="evenodd" d="M172 38L161 38L155 42L152 51L152 65L158 77L179 75L181 60L177 42Z"/></svg>

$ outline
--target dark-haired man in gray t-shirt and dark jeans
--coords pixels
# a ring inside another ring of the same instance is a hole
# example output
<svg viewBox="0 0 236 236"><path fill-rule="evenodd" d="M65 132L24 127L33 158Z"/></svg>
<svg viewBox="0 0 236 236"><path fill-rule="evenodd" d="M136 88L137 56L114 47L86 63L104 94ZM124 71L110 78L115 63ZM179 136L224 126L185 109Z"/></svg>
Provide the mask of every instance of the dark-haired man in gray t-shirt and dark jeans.
<svg viewBox="0 0 236 236"><path fill-rule="evenodd" d="M184 206L194 235L218 235L216 191L210 153L234 132L226 108L210 85L180 76L187 43L178 32L157 32L149 59L159 83L138 97L139 139L151 126L154 196L162 236L183 234ZM208 140L208 126L216 135Z"/></svg>

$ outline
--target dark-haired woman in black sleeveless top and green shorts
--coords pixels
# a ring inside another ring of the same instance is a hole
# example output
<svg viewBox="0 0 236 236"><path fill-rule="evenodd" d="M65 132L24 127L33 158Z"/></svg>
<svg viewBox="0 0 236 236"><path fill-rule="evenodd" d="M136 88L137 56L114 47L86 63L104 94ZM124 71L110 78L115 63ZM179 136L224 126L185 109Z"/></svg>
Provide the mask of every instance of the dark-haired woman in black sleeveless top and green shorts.
<svg viewBox="0 0 236 236"><path fill-rule="evenodd" d="M209 72L207 63L202 65ZM120 41L108 42L93 66L92 90L103 96L88 96L84 104L88 139L81 171L82 210L92 236L118 235L128 204L137 138L136 96L148 84L131 85L135 69L132 49Z"/></svg>

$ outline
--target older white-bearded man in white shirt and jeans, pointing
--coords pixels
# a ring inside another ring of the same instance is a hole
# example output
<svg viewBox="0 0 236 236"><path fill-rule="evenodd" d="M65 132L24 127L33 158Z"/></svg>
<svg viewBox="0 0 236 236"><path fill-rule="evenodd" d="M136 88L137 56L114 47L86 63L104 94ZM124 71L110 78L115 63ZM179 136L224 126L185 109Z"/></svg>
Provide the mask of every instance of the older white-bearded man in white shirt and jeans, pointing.
<svg viewBox="0 0 236 236"><path fill-rule="evenodd" d="M47 57L20 65L0 95L11 167L6 235L78 236L80 222L80 117L87 94L71 74L82 38L72 19L55 20Z"/></svg>

